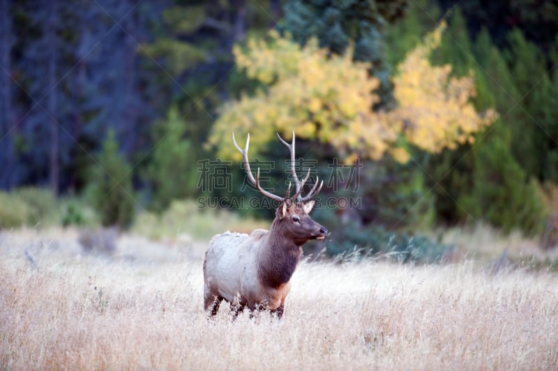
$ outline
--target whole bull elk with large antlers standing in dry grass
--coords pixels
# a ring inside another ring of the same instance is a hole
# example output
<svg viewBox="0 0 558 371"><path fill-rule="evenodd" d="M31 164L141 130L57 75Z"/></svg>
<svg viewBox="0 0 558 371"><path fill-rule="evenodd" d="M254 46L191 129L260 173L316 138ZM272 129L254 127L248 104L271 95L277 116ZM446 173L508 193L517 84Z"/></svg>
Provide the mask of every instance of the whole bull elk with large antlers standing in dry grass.
<svg viewBox="0 0 558 371"><path fill-rule="evenodd" d="M242 154L248 181L262 195L280 202L276 217L271 228L255 229L252 234L225 232L213 236L204 259L204 308L216 315L220 303L225 300L236 305L239 310L266 309L280 318L285 306L285 298L291 289L291 277L302 254L302 245L311 239L323 240L327 229L310 218L315 197L324 181L316 183L306 196L302 196L303 188L310 176L299 180L294 168L294 132L292 143L289 144L277 135L291 153L292 176L295 193L290 197L291 184L287 195L279 197L266 191L259 184L259 168L256 178L250 170L248 162L248 145L250 134L246 139L246 147L241 149L236 144L234 133L232 140L236 149Z"/></svg>

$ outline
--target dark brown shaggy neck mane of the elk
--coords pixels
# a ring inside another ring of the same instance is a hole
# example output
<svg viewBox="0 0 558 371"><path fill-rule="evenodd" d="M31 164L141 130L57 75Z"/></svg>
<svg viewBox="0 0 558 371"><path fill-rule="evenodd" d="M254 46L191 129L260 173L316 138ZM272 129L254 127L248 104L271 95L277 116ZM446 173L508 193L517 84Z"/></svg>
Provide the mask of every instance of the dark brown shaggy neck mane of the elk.
<svg viewBox="0 0 558 371"><path fill-rule="evenodd" d="M301 245L289 239L280 220L273 220L259 255L258 275L267 287L277 288L291 279L302 254Z"/></svg>

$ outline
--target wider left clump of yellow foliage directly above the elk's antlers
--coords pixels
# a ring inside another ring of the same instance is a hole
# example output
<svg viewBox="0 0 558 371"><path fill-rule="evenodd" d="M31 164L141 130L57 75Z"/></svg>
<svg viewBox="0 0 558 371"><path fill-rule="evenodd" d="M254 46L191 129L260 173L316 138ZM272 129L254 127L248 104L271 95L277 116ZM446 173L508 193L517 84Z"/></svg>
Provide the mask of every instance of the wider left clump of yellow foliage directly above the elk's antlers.
<svg viewBox="0 0 558 371"><path fill-rule="evenodd" d="M269 142L275 132L289 137L294 128L297 136L335 143L349 156L359 146L355 131L378 136L370 108L378 100L374 91L379 81L369 76L370 63L354 63L352 53L349 48L346 54L328 56L317 40L301 47L276 31L269 40L235 46L236 64L248 77L269 86L265 93L223 106L209 144L218 146L222 158L239 158L231 132L250 132L256 146ZM370 153L378 152L373 145L368 142Z"/></svg>

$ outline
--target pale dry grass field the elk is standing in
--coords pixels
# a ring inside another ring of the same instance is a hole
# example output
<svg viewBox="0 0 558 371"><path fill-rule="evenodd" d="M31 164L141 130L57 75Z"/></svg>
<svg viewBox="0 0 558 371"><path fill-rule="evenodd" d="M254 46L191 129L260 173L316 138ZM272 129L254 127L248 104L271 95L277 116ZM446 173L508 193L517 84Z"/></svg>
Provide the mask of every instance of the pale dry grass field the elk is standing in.
<svg viewBox="0 0 558 371"><path fill-rule="evenodd" d="M496 272L467 257L303 262L281 320L232 321L226 306L209 320L204 243L122 236L117 245L107 257L84 254L72 229L0 233L0 368L558 369L550 271Z"/></svg>

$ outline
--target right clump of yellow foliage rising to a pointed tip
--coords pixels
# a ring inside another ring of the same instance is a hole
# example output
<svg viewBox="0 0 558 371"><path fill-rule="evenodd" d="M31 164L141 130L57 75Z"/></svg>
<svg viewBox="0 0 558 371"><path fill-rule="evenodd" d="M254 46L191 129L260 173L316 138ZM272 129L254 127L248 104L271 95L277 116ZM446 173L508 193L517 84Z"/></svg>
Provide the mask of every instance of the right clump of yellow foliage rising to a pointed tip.
<svg viewBox="0 0 558 371"><path fill-rule="evenodd" d="M398 66L393 79L395 113L407 120L403 134L410 144L432 153L474 142L475 132L496 118L493 110L480 116L469 102L476 94L472 73L450 77L451 66L428 61L441 35L442 27L428 35Z"/></svg>

